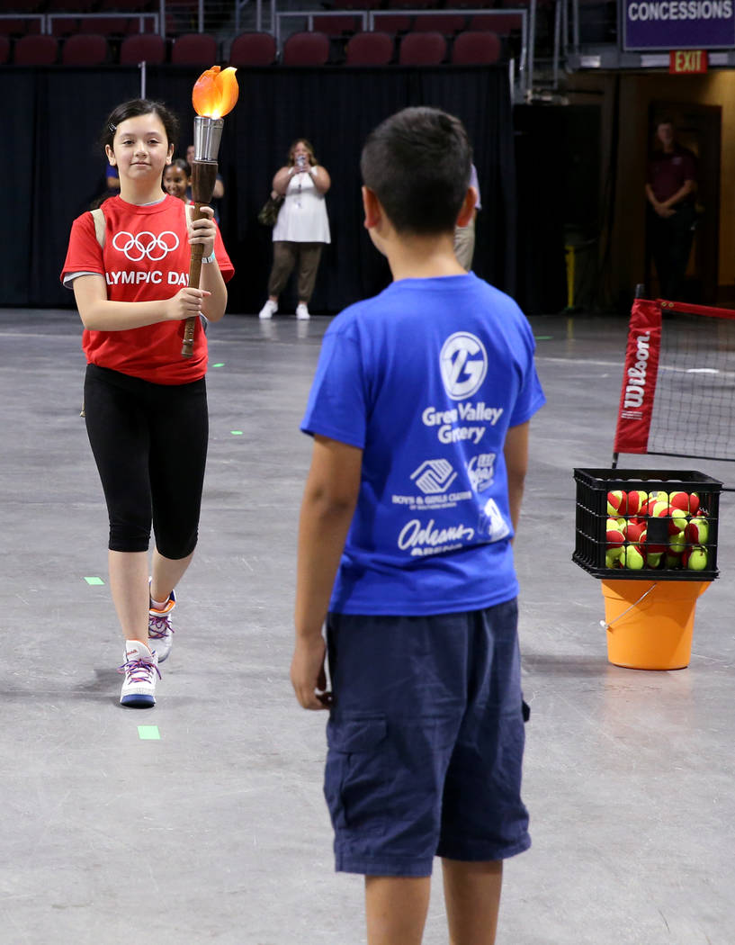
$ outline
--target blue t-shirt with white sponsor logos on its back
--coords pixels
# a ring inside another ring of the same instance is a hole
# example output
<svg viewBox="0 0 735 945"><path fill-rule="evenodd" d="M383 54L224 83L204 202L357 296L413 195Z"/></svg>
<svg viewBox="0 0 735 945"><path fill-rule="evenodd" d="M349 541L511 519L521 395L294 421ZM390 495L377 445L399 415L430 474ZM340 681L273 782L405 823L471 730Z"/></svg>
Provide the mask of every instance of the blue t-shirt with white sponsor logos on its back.
<svg viewBox="0 0 735 945"><path fill-rule="evenodd" d="M334 318L301 422L363 450L330 610L516 596L503 447L544 403L534 348L518 305L473 273L402 279Z"/></svg>

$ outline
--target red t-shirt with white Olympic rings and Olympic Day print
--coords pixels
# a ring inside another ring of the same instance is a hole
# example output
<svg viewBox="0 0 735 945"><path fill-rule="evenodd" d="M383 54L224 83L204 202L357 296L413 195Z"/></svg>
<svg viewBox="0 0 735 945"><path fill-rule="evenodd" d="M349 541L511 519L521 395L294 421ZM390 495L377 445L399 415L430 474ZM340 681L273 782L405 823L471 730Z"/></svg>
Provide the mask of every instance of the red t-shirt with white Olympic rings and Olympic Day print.
<svg viewBox="0 0 735 945"><path fill-rule="evenodd" d="M69 249L61 279L75 272L103 276L111 301L164 301L189 283L190 248L186 235L185 204L166 195L160 203L138 207L120 197L102 204L105 246L94 233L91 213L72 224ZM231 264L219 230L214 241L225 282ZM207 265L207 264L204 264ZM188 384L207 372L207 336L197 318L194 354L181 357L184 321L161 321L119 332L85 329L82 348L87 361L100 368L119 370L155 384Z"/></svg>

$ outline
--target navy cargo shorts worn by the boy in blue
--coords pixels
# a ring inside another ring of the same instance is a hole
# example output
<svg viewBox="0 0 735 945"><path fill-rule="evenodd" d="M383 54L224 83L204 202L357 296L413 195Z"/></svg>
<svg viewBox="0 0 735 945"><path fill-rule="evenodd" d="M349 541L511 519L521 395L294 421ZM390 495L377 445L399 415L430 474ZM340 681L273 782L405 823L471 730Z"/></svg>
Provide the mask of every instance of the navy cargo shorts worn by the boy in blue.
<svg viewBox="0 0 735 945"><path fill-rule="evenodd" d="M527 850L516 600L432 616L331 613L324 794L337 870L428 876Z"/></svg>

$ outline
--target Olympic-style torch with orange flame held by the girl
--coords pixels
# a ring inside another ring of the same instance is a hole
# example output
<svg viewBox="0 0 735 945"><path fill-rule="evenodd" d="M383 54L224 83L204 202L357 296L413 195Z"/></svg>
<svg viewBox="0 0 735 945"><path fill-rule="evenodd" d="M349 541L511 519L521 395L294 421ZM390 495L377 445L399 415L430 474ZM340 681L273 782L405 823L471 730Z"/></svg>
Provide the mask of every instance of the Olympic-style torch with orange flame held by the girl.
<svg viewBox="0 0 735 945"><path fill-rule="evenodd" d="M192 199L194 200L193 220L201 219L202 204L209 204L217 180L217 152L222 138L223 116L232 111L237 102L239 90L237 79L231 66L220 72L214 65L197 78L192 92L192 104L197 116L194 119L194 161L192 162ZM202 246L195 243L189 259L189 285L199 287L201 275ZM194 333L197 318L187 318L184 323L181 357L191 357L194 353Z"/></svg>

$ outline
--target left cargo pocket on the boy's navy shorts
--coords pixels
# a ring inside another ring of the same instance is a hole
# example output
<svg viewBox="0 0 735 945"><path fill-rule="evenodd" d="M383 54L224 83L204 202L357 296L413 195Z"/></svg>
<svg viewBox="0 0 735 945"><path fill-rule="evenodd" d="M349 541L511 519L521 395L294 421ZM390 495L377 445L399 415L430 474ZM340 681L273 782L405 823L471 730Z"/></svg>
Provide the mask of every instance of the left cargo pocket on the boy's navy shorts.
<svg viewBox="0 0 735 945"><path fill-rule="evenodd" d="M330 719L324 797L334 829L383 833L388 798L384 717Z"/></svg>

